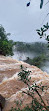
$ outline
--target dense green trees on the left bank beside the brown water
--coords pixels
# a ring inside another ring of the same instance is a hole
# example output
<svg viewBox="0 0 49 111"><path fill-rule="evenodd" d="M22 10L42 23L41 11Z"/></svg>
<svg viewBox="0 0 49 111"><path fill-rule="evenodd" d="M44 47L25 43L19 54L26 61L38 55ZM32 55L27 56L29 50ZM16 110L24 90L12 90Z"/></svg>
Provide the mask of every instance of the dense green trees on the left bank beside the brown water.
<svg viewBox="0 0 49 111"><path fill-rule="evenodd" d="M0 25L0 55L13 55L13 45L12 40L8 40L10 33L6 33L2 25Z"/></svg>

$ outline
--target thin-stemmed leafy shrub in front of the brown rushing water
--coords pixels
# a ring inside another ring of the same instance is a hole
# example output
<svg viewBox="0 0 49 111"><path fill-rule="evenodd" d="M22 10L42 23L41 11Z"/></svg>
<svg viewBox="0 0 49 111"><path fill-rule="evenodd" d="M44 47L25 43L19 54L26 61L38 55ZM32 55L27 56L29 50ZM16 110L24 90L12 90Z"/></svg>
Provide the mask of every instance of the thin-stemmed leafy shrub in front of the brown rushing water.
<svg viewBox="0 0 49 111"><path fill-rule="evenodd" d="M44 88L46 86L42 86L42 83L39 85L37 85L36 83L30 85L30 79L31 77L29 77L30 75L30 71L26 71L23 69L23 67L21 66L21 69L22 71L18 74L18 76L20 76L20 79L28 86L28 91L25 92L25 91L22 91L23 93L26 93L27 95L29 95L30 97L32 97L32 110L33 111L43 111L43 108L46 109L47 111L49 111L49 109L47 108L45 102L43 101L42 99L42 96L40 95L40 92L39 90L42 90L44 91ZM26 75L25 77L23 76L22 78L22 75ZM43 103L40 103L37 98L34 97L34 93L37 93L41 102Z"/></svg>

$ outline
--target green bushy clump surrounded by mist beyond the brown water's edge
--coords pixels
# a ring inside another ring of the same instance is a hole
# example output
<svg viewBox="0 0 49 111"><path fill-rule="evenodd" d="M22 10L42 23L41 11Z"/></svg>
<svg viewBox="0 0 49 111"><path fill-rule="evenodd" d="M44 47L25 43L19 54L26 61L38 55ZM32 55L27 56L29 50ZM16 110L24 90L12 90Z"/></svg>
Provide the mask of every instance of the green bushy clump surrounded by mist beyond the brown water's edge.
<svg viewBox="0 0 49 111"><path fill-rule="evenodd" d="M24 61L41 68L41 66L43 66L46 61L49 61L49 56L46 57L46 55L41 54L40 56L34 57L33 59L27 57L27 59Z"/></svg>

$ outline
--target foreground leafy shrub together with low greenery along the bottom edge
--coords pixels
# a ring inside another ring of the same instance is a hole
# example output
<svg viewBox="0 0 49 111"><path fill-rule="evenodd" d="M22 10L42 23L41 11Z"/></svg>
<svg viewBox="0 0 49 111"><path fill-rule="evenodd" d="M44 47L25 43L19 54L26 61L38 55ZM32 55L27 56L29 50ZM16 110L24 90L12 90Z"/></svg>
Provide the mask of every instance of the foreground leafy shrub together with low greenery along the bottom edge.
<svg viewBox="0 0 49 111"><path fill-rule="evenodd" d="M31 80L31 77L29 77L30 71L24 70L22 65L21 65L21 70L22 71L18 74L18 76L20 77L20 80L23 81L28 87L28 90L22 91L22 94L27 94L28 96L30 96L32 98L32 102L30 103L30 107L27 106L23 110L19 109L19 102L18 102L17 104L18 108L16 106L16 108L12 108L10 111L49 111L48 108L49 106L46 105L40 94L40 91L43 92L44 89L47 88L47 86L43 86L42 83L40 85L37 85L36 83L30 85L30 80ZM39 96L39 99L37 99L34 94L37 94Z"/></svg>

